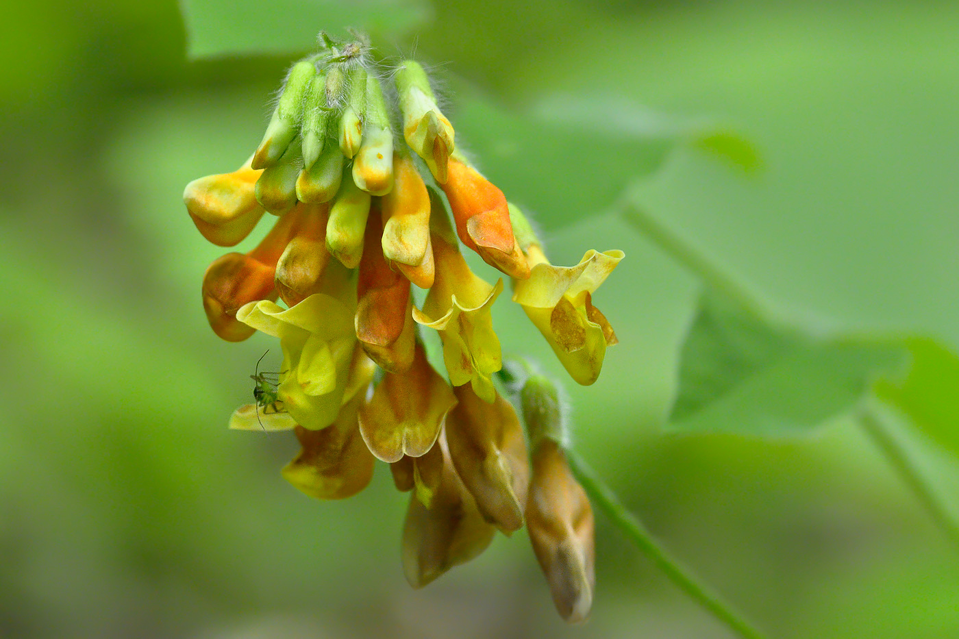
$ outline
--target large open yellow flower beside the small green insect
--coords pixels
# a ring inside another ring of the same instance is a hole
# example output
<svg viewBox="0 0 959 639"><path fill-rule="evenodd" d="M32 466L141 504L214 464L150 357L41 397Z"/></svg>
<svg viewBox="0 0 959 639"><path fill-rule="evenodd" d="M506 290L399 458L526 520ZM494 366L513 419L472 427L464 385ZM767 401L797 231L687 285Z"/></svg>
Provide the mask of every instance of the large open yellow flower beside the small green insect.
<svg viewBox="0 0 959 639"><path fill-rule="evenodd" d="M356 343L354 309L317 293L290 309L261 300L237 311L240 321L279 338L283 364L277 396L304 428L324 428L339 414Z"/></svg>

